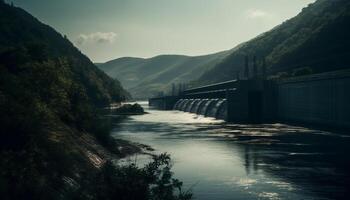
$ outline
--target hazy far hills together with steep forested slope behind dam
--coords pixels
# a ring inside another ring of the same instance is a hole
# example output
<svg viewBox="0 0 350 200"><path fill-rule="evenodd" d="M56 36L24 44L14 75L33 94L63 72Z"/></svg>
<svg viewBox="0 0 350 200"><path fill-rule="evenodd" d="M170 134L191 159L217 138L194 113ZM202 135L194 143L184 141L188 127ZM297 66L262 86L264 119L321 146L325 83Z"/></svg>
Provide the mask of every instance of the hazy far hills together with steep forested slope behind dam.
<svg viewBox="0 0 350 200"><path fill-rule="evenodd" d="M198 86L244 75L244 58L250 67L255 56L268 76L288 77L321 73L350 66L350 1L318 0L270 31L230 51L205 56L160 55L153 58L119 58L100 69L117 78L136 98L169 90L172 83ZM251 69L252 71L252 69Z"/></svg>

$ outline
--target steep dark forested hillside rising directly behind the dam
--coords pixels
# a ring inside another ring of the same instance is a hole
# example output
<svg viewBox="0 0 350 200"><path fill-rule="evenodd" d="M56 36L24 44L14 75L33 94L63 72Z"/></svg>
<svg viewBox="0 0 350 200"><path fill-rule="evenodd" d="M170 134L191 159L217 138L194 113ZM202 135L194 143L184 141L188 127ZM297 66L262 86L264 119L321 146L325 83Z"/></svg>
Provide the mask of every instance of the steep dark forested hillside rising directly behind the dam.
<svg viewBox="0 0 350 200"><path fill-rule="evenodd" d="M350 67L350 1L318 0L296 17L244 43L199 78L200 84L244 74L244 57L258 67L266 58L270 75L293 76Z"/></svg>

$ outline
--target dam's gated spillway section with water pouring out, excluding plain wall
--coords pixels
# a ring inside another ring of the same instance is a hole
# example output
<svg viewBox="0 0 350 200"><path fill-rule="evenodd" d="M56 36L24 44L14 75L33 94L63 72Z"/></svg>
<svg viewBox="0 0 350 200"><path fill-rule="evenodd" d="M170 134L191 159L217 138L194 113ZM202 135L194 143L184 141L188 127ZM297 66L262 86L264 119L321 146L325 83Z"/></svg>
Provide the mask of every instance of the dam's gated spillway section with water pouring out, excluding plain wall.
<svg viewBox="0 0 350 200"><path fill-rule="evenodd" d="M273 113L271 81L232 80L185 90L179 96L149 99L149 105L181 110L229 122L260 123ZM263 100L265 99L265 100ZM269 110L269 113L267 113Z"/></svg>

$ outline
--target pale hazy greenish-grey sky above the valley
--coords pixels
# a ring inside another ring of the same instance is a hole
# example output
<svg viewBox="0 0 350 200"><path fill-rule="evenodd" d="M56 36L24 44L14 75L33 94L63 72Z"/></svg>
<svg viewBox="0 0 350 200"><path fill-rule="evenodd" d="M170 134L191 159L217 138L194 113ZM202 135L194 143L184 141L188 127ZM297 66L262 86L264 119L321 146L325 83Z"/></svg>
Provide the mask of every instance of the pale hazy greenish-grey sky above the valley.
<svg viewBox="0 0 350 200"><path fill-rule="evenodd" d="M231 49L315 0L13 0L93 61Z"/></svg>

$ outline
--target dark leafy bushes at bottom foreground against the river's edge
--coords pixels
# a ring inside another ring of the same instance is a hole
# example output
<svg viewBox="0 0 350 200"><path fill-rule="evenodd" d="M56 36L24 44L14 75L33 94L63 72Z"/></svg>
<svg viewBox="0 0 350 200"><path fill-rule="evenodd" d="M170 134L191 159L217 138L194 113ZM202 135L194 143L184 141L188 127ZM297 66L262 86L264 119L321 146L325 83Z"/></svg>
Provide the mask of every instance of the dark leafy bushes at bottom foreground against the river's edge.
<svg viewBox="0 0 350 200"><path fill-rule="evenodd" d="M191 192L182 191L182 182L173 178L168 154L153 157L143 168L135 164L115 166L107 162L94 177L94 184L84 185L77 193L80 198L120 200L189 200Z"/></svg>

